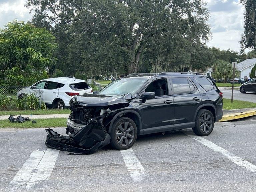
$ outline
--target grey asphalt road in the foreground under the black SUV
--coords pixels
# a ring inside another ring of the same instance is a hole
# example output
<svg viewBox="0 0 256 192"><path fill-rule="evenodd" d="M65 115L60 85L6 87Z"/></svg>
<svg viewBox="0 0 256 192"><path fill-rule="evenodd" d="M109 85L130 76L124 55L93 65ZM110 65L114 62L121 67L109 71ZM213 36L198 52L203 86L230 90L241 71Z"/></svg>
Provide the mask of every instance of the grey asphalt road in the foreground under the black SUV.
<svg viewBox="0 0 256 192"><path fill-rule="evenodd" d="M140 137L129 152L56 150L47 159L38 154L49 152L44 129L0 129L0 191L255 191L255 124L216 123L203 138L187 129Z"/></svg>

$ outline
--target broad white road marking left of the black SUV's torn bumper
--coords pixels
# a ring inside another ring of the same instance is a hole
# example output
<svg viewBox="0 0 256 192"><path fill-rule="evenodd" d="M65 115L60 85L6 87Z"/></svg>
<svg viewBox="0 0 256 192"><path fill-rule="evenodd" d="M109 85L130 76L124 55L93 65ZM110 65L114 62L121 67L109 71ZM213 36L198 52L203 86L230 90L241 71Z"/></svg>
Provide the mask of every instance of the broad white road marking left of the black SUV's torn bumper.
<svg viewBox="0 0 256 192"><path fill-rule="evenodd" d="M51 176L59 150L34 150L10 182L12 188L29 188L35 183L48 180Z"/></svg>

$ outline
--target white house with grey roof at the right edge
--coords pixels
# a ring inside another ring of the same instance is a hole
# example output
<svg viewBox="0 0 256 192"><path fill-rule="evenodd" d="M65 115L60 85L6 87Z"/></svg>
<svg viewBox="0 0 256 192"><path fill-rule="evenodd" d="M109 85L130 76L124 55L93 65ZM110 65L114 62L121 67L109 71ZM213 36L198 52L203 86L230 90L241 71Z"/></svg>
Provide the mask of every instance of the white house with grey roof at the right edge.
<svg viewBox="0 0 256 192"><path fill-rule="evenodd" d="M238 63L235 67L239 73L240 78L250 77L250 73L254 65L256 64L256 58L246 59L241 63Z"/></svg>

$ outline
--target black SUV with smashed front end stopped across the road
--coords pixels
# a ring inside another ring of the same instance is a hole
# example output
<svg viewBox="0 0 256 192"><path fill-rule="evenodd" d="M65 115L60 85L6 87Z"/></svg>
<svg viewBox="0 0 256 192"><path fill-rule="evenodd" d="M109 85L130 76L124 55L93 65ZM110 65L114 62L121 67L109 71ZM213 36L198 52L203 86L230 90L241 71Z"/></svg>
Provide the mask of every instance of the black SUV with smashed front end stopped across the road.
<svg viewBox="0 0 256 192"><path fill-rule="evenodd" d="M67 120L68 136L47 129L46 145L93 153L111 143L130 148L138 135L193 128L209 135L222 118L222 93L199 73L135 73L93 94L74 96Z"/></svg>

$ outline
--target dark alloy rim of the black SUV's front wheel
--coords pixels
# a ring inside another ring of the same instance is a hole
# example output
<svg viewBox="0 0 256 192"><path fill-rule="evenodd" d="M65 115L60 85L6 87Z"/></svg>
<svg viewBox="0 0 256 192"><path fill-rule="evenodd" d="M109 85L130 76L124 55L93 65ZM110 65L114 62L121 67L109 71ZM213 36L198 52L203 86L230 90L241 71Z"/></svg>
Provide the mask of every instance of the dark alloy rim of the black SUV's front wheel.
<svg viewBox="0 0 256 192"><path fill-rule="evenodd" d="M122 122L116 130L117 142L122 146L129 145L134 138L134 127L129 122Z"/></svg>

